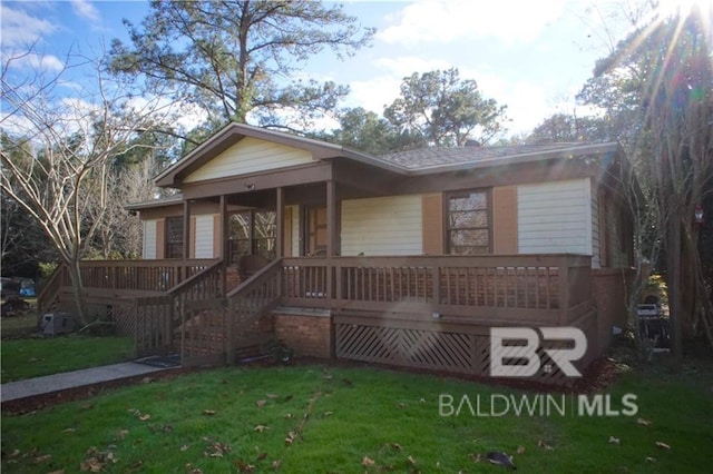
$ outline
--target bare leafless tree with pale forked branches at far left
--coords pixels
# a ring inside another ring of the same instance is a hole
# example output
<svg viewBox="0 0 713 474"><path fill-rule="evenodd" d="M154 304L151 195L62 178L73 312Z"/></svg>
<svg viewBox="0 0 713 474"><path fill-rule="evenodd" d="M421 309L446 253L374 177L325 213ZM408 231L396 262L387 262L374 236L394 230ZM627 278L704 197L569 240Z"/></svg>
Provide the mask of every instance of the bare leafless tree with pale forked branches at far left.
<svg viewBox="0 0 713 474"><path fill-rule="evenodd" d="M22 56L3 58L0 81L6 136L0 151L0 189L42 228L67 266L82 324L89 315L79 261L101 226L108 206L108 181L116 156L136 136L162 122L164 100L136 101L128 85L102 73L102 59L89 61L96 81L67 97L67 66L56 75L36 69L20 75ZM159 91L157 90L157 93ZM160 93L158 93L160 97ZM165 118L165 117L164 117ZM89 197L94 197L90 199Z"/></svg>

